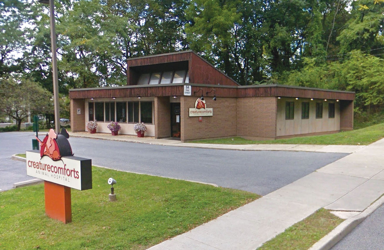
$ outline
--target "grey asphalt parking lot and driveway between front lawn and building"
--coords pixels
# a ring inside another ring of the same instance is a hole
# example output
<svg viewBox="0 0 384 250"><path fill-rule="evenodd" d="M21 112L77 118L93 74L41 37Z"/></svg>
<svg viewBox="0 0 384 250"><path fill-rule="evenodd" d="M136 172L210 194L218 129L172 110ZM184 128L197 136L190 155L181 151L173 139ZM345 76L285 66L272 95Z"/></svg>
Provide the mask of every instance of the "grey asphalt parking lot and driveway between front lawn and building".
<svg viewBox="0 0 384 250"><path fill-rule="evenodd" d="M0 157L5 162L0 166L0 189L9 189L9 184L21 181L23 174L25 179L31 179L25 175L25 163L10 160L10 156L31 149L32 138L32 132L0 133ZM69 141L75 156L91 158L95 165L215 183L261 195L348 155L184 148L88 138Z"/></svg>

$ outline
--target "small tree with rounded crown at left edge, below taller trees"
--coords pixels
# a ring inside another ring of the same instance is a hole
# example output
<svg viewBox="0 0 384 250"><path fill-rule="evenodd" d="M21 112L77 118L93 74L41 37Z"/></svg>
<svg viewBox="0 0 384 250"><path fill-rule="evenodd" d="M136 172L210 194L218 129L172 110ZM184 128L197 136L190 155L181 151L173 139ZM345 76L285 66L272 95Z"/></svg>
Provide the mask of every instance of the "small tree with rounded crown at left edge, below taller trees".
<svg viewBox="0 0 384 250"><path fill-rule="evenodd" d="M0 115L8 115L17 122L33 113L53 113L52 94L28 79L0 79Z"/></svg>

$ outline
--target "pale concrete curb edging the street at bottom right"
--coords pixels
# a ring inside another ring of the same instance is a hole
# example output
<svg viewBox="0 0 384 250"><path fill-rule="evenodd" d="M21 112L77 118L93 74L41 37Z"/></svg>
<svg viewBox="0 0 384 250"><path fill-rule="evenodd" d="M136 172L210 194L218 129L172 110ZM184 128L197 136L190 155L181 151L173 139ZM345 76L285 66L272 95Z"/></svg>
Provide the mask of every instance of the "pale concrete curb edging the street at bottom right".
<svg viewBox="0 0 384 250"><path fill-rule="evenodd" d="M325 235L318 242L314 243L314 245L309 248L309 250L329 250L343 237L349 234L349 232L351 232L355 227L357 227L363 220L365 220L366 217L378 209L382 204L384 204L384 196L367 207L363 212L361 212L361 214L344 220L344 222L338 225L329 234Z"/></svg>

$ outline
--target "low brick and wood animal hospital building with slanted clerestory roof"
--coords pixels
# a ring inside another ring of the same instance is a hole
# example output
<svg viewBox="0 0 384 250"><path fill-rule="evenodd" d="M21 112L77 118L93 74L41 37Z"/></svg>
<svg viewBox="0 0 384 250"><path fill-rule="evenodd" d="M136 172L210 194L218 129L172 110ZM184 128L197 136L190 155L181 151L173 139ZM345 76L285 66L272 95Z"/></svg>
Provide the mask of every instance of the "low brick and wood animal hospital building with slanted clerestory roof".
<svg viewBox="0 0 384 250"><path fill-rule="evenodd" d="M285 86L240 86L194 51L127 60L127 85L71 89L71 129L189 141L239 136L266 140L353 129L354 92Z"/></svg>

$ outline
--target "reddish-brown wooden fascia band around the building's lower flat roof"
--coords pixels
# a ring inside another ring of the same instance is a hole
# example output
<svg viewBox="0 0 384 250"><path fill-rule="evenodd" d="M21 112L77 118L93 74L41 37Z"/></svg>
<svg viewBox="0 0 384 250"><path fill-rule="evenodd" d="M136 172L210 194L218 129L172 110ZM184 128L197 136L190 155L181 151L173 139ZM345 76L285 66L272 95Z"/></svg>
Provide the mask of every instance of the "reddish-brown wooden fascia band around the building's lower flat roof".
<svg viewBox="0 0 384 250"><path fill-rule="evenodd" d="M298 97L298 98L314 98L314 99L339 99L339 100L354 100L355 94L348 92L337 92L317 89L303 89L294 87L281 87L281 86L266 86L266 87L225 87L222 85L200 85L190 84L192 86L192 96L206 96L206 92L212 89L216 90L216 97L268 97L268 96L281 96L281 97ZM202 92L194 94L193 92ZM71 90L71 99L84 99L84 98L106 98L106 97L162 97L172 95L184 95L184 86L129 86L129 87L116 87L116 88L93 88L93 89L80 89ZM209 94L213 97L214 92Z"/></svg>

